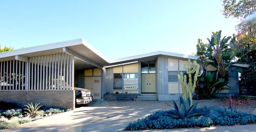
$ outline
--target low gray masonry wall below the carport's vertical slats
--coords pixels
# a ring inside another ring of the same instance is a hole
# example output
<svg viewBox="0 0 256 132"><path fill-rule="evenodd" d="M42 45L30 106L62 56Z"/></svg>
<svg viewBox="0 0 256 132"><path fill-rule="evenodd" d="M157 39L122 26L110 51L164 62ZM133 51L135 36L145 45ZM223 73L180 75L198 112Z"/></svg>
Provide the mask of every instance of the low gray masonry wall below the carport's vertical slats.
<svg viewBox="0 0 256 132"><path fill-rule="evenodd" d="M0 101L15 102L21 107L40 103L46 107L75 108L74 91L0 91Z"/></svg>

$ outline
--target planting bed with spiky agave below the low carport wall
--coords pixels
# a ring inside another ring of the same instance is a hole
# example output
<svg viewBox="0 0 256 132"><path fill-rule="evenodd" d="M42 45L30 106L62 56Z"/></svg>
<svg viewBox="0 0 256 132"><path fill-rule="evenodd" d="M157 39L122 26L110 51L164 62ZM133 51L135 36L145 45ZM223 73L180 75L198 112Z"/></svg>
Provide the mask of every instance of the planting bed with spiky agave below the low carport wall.
<svg viewBox="0 0 256 132"><path fill-rule="evenodd" d="M32 107L32 106L33 107ZM43 119L44 117L55 115L57 113L67 112L71 109L46 108L39 104L28 105L29 108L21 109L15 103L0 102L0 130L17 127L20 124ZM31 106L31 107L30 107ZM28 110L29 109L29 110Z"/></svg>

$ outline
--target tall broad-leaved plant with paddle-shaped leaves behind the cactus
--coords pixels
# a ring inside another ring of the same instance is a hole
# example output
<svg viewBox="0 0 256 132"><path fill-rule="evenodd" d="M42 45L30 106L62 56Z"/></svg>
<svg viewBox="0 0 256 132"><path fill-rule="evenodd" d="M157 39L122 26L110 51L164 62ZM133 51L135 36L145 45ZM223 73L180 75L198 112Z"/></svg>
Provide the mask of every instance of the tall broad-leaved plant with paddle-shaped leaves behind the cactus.
<svg viewBox="0 0 256 132"><path fill-rule="evenodd" d="M234 59L234 50L231 48L235 43L234 38L223 37L221 38L221 31L213 32L212 37L207 38L209 43L202 43L199 39L197 43L197 60L203 67L204 74L200 78L197 87L195 88L196 98L212 98L217 91L221 91L223 88L227 88L228 68L232 64ZM207 66L214 66L216 68L215 73L208 73ZM203 96L202 96L203 95ZM207 96L204 96L207 95Z"/></svg>

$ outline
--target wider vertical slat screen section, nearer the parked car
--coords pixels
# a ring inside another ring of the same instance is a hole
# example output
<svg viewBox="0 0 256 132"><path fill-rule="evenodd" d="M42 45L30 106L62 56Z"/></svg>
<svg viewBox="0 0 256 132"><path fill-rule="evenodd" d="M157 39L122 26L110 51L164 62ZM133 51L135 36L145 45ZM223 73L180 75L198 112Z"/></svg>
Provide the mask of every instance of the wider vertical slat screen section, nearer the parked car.
<svg viewBox="0 0 256 132"><path fill-rule="evenodd" d="M73 59L67 53L30 57L29 90L73 89Z"/></svg>

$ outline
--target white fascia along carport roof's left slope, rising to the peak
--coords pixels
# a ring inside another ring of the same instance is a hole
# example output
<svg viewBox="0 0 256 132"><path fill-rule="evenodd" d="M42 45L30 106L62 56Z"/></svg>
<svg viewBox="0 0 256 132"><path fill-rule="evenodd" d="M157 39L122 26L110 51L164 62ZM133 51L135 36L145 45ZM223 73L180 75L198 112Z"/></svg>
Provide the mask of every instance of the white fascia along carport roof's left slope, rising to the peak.
<svg viewBox="0 0 256 132"><path fill-rule="evenodd" d="M61 47L79 45L79 44L82 44L82 39L74 39L74 40L68 40L68 41L61 41L58 43L51 43L51 44L46 44L46 45L21 48L18 50L2 52L2 53L0 53L0 58L10 57L10 56L20 55L20 54L39 52L39 51L52 50L55 48L61 48Z"/></svg>

